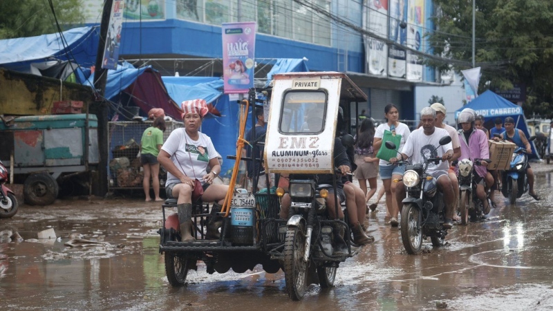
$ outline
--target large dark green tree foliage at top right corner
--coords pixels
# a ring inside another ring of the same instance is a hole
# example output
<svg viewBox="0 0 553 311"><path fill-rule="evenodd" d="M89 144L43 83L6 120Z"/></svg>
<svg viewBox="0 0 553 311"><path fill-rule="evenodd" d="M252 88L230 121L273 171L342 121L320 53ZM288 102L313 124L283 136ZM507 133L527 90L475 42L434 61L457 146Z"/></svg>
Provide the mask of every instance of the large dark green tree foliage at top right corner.
<svg viewBox="0 0 553 311"><path fill-rule="evenodd" d="M472 60L472 0L434 0L434 52ZM553 113L553 1L476 0L476 66L480 88L526 86L525 114ZM430 62L429 62L430 63ZM433 64L447 70L448 64ZM467 69L470 66L456 70ZM490 82L487 84L486 82Z"/></svg>

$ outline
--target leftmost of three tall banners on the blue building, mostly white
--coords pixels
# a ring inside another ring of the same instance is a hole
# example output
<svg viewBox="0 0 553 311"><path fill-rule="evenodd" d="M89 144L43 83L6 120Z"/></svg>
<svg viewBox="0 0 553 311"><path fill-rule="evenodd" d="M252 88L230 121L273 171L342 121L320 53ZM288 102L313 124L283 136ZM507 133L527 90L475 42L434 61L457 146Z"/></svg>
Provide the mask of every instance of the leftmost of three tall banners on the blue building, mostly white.
<svg viewBox="0 0 553 311"><path fill-rule="evenodd" d="M379 37L388 37L388 0L366 0L365 3L368 3L364 6L364 9L368 8L368 14L364 16L368 21L364 26ZM365 45L368 73L388 75L388 46L373 37L366 38Z"/></svg>

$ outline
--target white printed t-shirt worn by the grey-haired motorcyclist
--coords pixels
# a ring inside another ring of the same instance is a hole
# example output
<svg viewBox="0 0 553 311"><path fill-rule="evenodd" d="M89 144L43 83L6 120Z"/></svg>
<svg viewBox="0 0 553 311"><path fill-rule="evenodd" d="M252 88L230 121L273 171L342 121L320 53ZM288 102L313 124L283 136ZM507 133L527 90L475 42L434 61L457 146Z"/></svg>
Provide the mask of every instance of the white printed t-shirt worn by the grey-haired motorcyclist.
<svg viewBox="0 0 553 311"><path fill-rule="evenodd" d="M407 142L405 142L405 146L402 149L402 153L406 154L410 158L412 157L412 164L424 164L425 158L441 157L447 151L453 151L451 142L449 142L449 144L445 144L444 146L440 146L440 139L444 136L449 136L449 133L439 127L434 128L434 133L432 133L432 135L426 135L424 133L424 129L420 127L409 135L409 138L407 139ZM438 147L438 149L435 149L435 147ZM435 163L429 163L427 173L433 173L434 171L447 172L448 169L449 163L447 161L440 161L438 165Z"/></svg>

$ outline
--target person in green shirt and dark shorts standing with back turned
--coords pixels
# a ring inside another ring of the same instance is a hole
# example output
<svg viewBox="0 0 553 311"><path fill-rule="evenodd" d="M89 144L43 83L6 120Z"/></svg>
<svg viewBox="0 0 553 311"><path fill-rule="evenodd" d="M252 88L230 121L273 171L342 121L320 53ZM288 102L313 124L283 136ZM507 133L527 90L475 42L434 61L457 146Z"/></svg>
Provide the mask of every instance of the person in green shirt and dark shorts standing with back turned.
<svg viewBox="0 0 553 311"><path fill-rule="evenodd" d="M150 178L152 179L153 194L156 196L154 200L162 200L160 198L160 163L158 162L158 154L163 145L163 132L165 132L165 120L163 117L156 117L153 120L152 126L142 133L142 139L140 140L140 163L144 167L142 187L144 187L146 201L151 201Z"/></svg>

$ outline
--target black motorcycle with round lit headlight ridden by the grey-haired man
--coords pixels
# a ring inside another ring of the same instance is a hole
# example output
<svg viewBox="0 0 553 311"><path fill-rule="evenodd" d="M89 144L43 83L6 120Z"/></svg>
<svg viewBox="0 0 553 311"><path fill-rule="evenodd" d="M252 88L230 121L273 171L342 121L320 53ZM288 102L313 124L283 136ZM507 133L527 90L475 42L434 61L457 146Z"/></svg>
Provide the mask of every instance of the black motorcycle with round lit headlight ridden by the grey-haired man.
<svg viewBox="0 0 553 311"><path fill-rule="evenodd" d="M450 136L440 139L440 146L451 142ZM397 153L393 142L386 142L386 148ZM438 146L439 147L439 146ZM435 147L434 150L438 149ZM402 200L401 233L402 243L408 254L418 254L422 240L430 237L434 247L444 245L447 229L443 227L445 220L445 203L442 191L438 189L435 178L427 175L429 163L438 164L442 158L427 158L424 163L409 164L398 161L395 164L406 165L403 182L406 188L406 198Z"/></svg>

